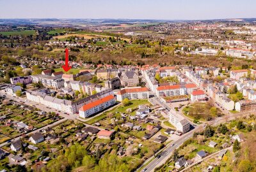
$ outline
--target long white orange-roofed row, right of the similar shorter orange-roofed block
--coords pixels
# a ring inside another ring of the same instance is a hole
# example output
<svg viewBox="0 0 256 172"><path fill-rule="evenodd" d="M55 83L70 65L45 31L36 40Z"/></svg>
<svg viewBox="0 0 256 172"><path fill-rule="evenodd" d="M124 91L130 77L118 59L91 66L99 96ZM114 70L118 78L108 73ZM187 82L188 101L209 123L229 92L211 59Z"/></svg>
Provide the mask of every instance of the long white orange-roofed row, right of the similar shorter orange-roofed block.
<svg viewBox="0 0 256 172"><path fill-rule="evenodd" d="M188 83L185 85L164 85L157 88L157 96L179 96L191 94L193 90L196 90L194 83Z"/></svg>

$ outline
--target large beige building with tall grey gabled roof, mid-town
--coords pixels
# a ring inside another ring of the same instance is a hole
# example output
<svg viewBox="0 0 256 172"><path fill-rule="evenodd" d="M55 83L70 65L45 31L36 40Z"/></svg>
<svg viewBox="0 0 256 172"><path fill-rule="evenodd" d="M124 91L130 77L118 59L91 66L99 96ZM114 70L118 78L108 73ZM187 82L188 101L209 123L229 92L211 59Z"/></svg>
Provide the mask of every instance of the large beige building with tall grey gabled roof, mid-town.
<svg viewBox="0 0 256 172"><path fill-rule="evenodd" d="M139 84L139 76L134 71L125 71L120 76L122 87L134 87Z"/></svg>

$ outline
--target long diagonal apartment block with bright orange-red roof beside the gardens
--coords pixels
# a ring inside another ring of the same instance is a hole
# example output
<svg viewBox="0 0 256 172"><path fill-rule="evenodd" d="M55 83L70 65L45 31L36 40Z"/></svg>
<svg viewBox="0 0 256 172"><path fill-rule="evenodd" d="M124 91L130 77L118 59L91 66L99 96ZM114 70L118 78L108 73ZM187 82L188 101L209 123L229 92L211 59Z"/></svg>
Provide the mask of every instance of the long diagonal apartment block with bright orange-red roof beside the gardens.
<svg viewBox="0 0 256 172"><path fill-rule="evenodd" d="M115 104L115 97L113 95L103 97L102 99L98 99L97 101L93 101L92 103L82 106L79 109L79 117L90 117L91 115L102 111L113 104Z"/></svg>

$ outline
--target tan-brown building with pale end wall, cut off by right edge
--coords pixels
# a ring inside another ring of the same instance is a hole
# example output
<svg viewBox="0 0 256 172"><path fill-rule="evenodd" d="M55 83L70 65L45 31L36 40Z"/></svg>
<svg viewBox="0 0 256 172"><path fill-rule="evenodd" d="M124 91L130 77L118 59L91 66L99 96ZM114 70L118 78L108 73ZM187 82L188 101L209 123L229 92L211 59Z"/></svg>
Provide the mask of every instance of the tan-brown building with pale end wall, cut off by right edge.
<svg viewBox="0 0 256 172"><path fill-rule="evenodd" d="M256 111L256 101L251 100L241 100L235 104L236 111Z"/></svg>

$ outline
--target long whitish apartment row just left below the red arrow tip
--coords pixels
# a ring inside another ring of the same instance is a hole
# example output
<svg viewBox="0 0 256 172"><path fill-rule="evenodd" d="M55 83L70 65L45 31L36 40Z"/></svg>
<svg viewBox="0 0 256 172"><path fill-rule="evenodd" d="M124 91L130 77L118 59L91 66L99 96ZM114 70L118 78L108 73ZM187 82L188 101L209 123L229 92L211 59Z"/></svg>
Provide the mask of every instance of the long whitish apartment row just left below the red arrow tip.
<svg viewBox="0 0 256 172"><path fill-rule="evenodd" d="M49 75L31 75L33 83L41 82L44 87L51 89L60 89L64 87L64 80Z"/></svg>

